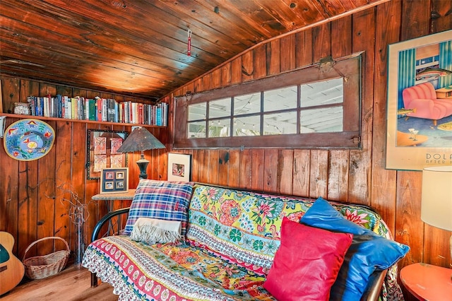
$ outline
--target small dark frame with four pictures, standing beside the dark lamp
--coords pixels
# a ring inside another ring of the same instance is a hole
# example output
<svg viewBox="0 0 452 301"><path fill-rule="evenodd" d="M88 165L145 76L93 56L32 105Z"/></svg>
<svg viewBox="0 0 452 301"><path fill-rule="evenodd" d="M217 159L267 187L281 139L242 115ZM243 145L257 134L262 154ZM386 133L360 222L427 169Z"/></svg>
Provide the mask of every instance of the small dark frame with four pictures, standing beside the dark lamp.
<svg viewBox="0 0 452 301"><path fill-rule="evenodd" d="M113 194L129 189L129 168L102 168L100 172L100 193Z"/></svg>

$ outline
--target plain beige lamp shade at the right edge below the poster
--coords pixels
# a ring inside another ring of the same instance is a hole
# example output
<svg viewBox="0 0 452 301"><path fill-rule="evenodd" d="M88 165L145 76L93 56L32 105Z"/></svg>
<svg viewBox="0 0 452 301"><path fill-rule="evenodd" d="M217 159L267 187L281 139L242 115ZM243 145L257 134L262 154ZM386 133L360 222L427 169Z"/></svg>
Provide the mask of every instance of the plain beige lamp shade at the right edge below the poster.
<svg viewBox="0 0 452 301"><path fill-rule="evenodd" d="M422 171L421 219L452 231L452 166L425 167Z"/></svg>

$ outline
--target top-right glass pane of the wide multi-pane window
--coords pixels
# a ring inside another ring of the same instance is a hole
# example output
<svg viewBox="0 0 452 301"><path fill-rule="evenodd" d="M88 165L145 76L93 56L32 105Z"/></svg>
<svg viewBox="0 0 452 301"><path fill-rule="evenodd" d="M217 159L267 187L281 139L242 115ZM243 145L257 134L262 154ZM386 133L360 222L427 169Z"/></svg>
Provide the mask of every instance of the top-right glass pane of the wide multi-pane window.
<svg viewBox="0 0 452 301"><path fill-rule="evenodd" d="M343 98L342 78L301 85L301 107L342 103Z"/></svg>

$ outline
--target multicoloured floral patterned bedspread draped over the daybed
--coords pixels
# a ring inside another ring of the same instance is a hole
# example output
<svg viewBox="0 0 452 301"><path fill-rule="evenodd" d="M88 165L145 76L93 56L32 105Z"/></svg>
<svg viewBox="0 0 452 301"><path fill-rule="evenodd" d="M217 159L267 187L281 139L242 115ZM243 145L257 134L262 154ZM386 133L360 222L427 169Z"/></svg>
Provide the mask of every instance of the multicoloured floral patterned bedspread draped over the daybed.
<svg viewBox="0 0 452 301"><path fill-rule="evenodd" d="M185 242L148 245L105 237L88 246L83 266L112 284L119 300L275 300L262 284L280 245L283 217L298 222L314 201L196 184ZM391 239L374 211L332 205ZM396 266L388 270L383 300L403 300Z"/></svg>

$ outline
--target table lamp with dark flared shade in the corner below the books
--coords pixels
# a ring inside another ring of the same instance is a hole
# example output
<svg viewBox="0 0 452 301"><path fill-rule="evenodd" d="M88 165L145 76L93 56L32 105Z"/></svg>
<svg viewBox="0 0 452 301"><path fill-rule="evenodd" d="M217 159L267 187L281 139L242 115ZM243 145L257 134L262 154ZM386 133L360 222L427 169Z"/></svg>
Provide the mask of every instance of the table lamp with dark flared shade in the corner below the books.
<svg viewBox="0 0 452 301"><path fill-rule="evenodd" d="M140 168L140 179L148 178L148 164L149 160L144 158L144 151L153 150L157 148L165 148L165 146L158 141L153 134L142 126L137 126L129 136L127 136L122 146L118 148L118 153L133 153L141 151L140 160L136 164Z"/></svg>

